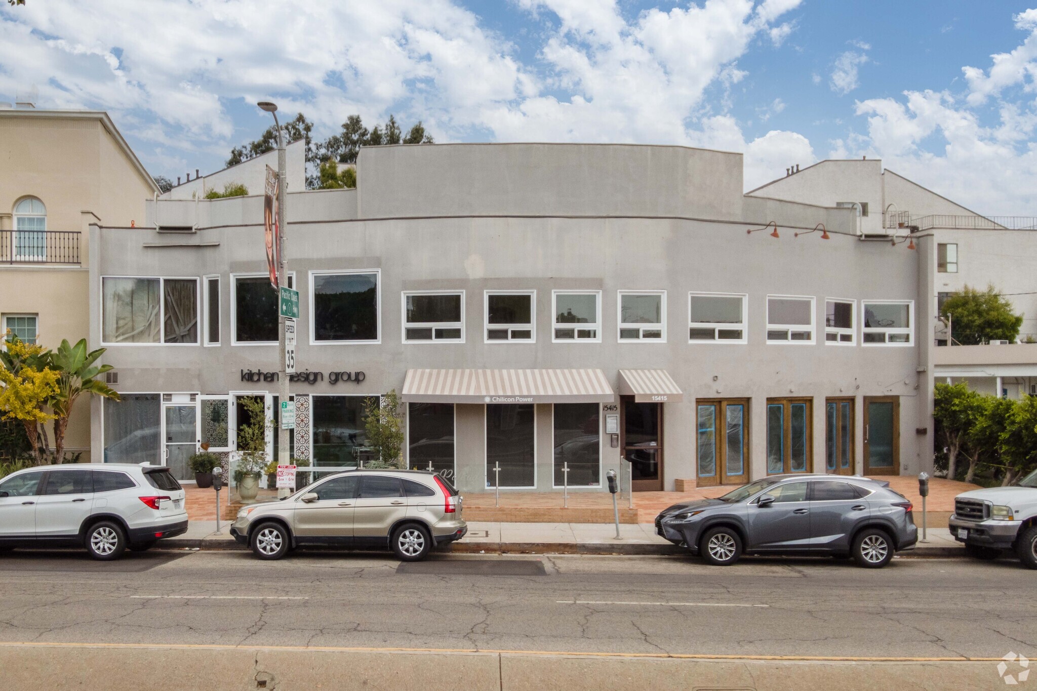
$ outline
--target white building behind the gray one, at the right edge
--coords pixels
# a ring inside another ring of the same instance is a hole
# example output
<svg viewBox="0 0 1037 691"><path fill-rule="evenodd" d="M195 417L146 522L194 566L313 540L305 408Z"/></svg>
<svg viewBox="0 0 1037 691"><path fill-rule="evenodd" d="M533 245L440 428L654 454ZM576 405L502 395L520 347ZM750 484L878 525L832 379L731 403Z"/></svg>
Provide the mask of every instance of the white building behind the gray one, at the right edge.
<svg viewBox="0 0 1037 691"><path fill-rule="evenodd" d="M965 286L988 285L1022 315L1018 343L958 346L948 323L934 324L937 381L966 381L981 393L1037 395L1037 218L983 215L897 173L880 161L822 161L749 193L787 201L850 207L865 237L931 236L936 269L930 299L937 310ZM945 348L944 346L950 346Z"/></svg>

